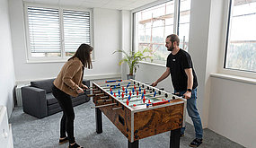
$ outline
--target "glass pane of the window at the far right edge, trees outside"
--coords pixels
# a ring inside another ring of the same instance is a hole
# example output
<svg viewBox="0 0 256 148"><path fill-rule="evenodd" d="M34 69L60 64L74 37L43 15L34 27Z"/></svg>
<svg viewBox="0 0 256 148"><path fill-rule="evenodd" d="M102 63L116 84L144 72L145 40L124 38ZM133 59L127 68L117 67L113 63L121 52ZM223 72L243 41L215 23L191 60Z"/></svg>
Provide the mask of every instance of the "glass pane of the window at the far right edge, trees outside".
<svg viewBox="0 0 256 148"><path fill-rule="evenodd" d="M231 0L225 69L256 72L256 1Z"/></svg>

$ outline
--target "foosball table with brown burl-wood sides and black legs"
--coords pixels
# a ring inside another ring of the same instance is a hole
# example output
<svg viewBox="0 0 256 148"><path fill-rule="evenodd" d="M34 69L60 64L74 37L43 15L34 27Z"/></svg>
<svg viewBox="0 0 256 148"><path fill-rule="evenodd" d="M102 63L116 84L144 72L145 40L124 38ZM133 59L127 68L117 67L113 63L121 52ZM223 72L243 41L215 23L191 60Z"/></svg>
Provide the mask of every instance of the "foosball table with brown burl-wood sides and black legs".
<svg viewBox="0 0 256 148"><path fill-rule="evenodd" d="M187 101L136 80L93 83L96 132L102 133L102 112L128 138L128 148L139 140L171 131L170 147L180 147Z"/></svg>

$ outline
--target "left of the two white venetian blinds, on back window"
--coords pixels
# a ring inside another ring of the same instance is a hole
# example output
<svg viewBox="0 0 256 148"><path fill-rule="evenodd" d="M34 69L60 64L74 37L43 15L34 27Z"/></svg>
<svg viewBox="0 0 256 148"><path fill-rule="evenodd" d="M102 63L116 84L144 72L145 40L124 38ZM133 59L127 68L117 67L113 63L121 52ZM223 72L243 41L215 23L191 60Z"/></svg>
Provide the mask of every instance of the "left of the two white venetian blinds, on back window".
<svg viewBox="0 0 256 148"><path fill-rule="evenodd" d="M31 53L60 53L60 22L57 9L28 7Z"/></svg>

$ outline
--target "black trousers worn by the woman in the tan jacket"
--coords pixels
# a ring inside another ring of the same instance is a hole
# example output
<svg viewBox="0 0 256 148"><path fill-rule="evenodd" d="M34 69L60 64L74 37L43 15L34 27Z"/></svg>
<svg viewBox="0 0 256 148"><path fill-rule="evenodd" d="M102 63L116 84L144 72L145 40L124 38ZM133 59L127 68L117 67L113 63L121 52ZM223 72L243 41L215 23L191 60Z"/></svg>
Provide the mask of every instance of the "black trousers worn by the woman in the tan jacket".
<svg viewBox="0 0 256 148"><path fill-rule="evenodd" d="M52 94L57 99L60 108L63 110L63 116L60 121L60 137L68 136L69 144L75 143L74 120L75 112L70 95L59 90L56 86L52 87Z"/></svg>

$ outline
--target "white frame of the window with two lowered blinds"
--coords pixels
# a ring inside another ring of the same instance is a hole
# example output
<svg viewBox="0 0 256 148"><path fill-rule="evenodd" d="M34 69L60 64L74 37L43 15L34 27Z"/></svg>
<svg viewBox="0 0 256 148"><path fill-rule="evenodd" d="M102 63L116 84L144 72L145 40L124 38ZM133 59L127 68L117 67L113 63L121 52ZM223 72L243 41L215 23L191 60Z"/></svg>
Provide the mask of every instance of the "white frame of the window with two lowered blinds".
<svg viewBox="0 0 256 148"><path fill-rule="evenodd" d="M59 13L59 22L60 22L60 57L31 57L31 42L30 42L30 30L29 30L29 18L28 18L28 7L44 7L44 8L52 8L57 9ZM38 4L38 3L23 3L24 10L24 25L25 25L25 39L26 39L26 59L27 63L52 63L52 62L66 62L69 57L65 56L65 48L64 48L64 23L63 23L63 10L71 10L71 11L84 11L90 13L90 42L91 46L94 47L94 39L93 39L93 10L89 8L79 7L75 8L74 6L57 6L54 4ZM94 60L94 50L92 59Z"/></svg>

